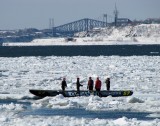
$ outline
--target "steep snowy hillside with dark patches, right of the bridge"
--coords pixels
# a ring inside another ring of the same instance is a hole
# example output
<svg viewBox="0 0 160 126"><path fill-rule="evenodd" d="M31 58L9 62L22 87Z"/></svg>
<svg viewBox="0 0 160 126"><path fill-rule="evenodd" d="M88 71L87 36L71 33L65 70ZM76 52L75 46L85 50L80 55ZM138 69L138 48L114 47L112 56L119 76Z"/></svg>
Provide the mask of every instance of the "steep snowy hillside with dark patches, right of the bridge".
<svg viewBox="0 0 160 126"><path fill-rule="evenodd" d="M89 32L77 33L77 37L91 37L100 41L160 41L160 24L141 24L96 28Z"/></svg>

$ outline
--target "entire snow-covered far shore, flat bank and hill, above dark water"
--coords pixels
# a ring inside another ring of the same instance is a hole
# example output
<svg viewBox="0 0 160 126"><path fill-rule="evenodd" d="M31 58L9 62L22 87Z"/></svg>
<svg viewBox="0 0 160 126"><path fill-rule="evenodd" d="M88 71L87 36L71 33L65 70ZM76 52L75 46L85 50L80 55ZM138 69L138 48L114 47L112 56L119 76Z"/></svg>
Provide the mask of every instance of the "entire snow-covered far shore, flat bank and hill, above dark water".
<svg viewBox="0 0 160 126"><path fill-rule="evenodd" d="M10 42L10 43L4 43L3 45L45 46L45 45L93 45L93 44L103 45L103 44L122 44L122 43L160 44L160 24L140 24L135 26L94 28L93 30L90 30L88 32L80 32L75 34L74 39L52 38L49 37L50 35L46 35L45 32L35 32L35 33L36 34L28 35L29 37L31 37L31 39L22 37L21 40L23 41L21 41L21 43ZM18 38L21 38L21 36L19 36Z"/></svg>

